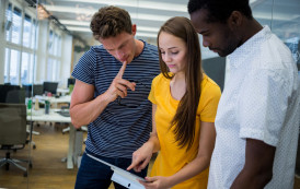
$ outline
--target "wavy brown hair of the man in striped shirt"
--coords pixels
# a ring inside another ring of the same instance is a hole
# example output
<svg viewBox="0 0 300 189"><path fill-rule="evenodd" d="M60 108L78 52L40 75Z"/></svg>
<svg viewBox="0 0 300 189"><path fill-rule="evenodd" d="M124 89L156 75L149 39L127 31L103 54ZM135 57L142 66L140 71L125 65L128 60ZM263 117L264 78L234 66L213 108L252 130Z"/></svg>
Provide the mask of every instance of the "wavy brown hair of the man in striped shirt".
<svg viewBox="0 0 300 189"><path fill-rule="evenodd" d="M131 19L129 13L120 8L109 5L101 8L92 17L90 28L94 38L115 37L122 32L131 34Z"/></svg>

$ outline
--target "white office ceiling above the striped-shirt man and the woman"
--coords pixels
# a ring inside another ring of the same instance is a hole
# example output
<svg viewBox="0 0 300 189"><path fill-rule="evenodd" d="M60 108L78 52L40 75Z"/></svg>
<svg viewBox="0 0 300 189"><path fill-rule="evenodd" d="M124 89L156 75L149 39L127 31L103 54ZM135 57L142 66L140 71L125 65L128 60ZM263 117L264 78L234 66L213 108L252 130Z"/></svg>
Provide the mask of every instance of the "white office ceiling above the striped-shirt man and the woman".
<svg viewBox="0 0 300 189"><path fill-rule="evenodd" d="M155 39L160 26L170 17L187 14L188 0L45 0L44 8L72 32L90 40L92 15L102 7L127 10L137 24L137 38Z"/></svg>

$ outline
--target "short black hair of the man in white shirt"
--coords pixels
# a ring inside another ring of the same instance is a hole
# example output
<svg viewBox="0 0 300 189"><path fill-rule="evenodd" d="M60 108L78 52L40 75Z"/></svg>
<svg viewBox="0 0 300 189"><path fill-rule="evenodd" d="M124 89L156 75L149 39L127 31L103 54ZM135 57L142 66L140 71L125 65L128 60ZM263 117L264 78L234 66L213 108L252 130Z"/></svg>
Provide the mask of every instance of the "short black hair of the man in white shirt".
<svg viewBox="0 0 300 189"><path fill-rule="evenodd" d="M207 22L224 23L233 11L239 11L247 19L253 19L249 0L189 0L188 13L200 9L208 11Z"/></svg>

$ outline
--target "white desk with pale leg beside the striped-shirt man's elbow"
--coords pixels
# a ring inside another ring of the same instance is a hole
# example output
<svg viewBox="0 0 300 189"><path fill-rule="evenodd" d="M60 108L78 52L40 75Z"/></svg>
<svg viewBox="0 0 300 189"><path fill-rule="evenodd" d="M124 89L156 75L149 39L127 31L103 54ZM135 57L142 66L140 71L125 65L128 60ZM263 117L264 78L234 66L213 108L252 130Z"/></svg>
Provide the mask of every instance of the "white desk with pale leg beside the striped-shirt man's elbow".
<svg viewBox="0 0 300 189"><path fill-rule="evenodd" d="M32 115L27 115L28 121L49 121L49 122L68 122L71 123L70 117L64 117L55 113L58 109L50 109L49 115L45 115L45 109L34 110L32 109ZM74 141L76 141L76 130L74 127L70 126L69 132L69 150L67 156L67 168L72 169L73 164L77 163L77 157L74 155Z"/></svg>

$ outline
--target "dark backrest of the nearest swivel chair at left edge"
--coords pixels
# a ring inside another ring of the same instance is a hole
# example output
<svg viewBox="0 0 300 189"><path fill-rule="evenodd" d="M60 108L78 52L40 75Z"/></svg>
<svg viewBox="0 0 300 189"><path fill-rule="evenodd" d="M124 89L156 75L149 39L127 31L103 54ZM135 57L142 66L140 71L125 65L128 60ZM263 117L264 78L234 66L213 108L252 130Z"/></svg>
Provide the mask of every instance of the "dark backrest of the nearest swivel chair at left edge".
<svg viewBox="0 0 300 189"><path fill-rule="evenodd" d="M26 138L25 104L0 103L0 144L25 144Z"/></svg>

